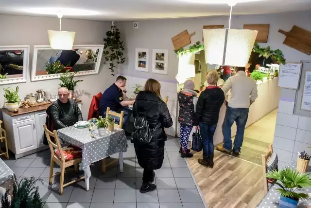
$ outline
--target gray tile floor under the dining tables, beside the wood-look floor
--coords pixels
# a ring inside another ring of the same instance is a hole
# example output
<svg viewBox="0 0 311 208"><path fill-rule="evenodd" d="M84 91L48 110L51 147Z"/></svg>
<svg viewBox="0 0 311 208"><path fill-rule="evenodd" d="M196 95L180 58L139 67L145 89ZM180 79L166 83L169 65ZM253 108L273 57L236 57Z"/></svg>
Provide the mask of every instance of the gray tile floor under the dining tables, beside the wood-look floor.
<svg viewBox="0 0 311 208"><path fill-rule="evenodd" d="M45 202L44 208L204 208L187 164L178 153L175 138L166 141L163 166L155 170L157 189L145 194L139 192L143 170L136 160L134 146L130 141L128 144L123 173L116 165L103 174L101 163L97 162L91 166L89 191L85 190L85 182L80 181L66 187L63 195L58 194L59 178L56 177L49 185L50 150L3 161L14 171L18 180L31 176L41 179L36 184ZM112 158L117 157L112 155ZM54 168L54 172L57 171L59 168ZM73 173L66 173L65 183L73 177Z"/></svg>

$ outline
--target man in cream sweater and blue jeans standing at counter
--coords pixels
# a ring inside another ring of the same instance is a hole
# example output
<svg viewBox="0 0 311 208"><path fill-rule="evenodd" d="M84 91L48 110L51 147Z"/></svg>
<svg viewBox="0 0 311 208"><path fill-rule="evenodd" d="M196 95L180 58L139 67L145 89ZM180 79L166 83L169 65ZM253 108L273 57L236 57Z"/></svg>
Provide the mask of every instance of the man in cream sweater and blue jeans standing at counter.
<svg viewBox="0 0 311 208"><path fill-rule="evenodd" d="M227 79L222 90L225 95L231 90L228 97L227 110L223 123L224 145L217 147L219 151L225 151L238 155L244 139L244 130L247 122L249 106L258 97L256 82L245 75L245 67L236 67L236 75ZM233 122L237 125L237 134L234 139L233 149L231 140L231 126Z"/></svg>

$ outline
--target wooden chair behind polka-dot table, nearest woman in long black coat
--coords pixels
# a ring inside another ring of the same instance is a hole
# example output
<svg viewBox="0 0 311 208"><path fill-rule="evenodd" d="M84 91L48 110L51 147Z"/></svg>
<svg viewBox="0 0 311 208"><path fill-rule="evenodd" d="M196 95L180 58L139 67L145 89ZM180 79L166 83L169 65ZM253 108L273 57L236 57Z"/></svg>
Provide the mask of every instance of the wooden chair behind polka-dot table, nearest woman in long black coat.
<svg viewBox="0 0 311 208"><path fill-rule="evenodd" d="M121 111L121 113L116 113L116 112L110 111L110 108L108 107L107 111L106 111L106 117L108 117L109 115L113 115L113 116L116 116L116 117L119 118L120 122L119 122L119 124L115 123L115 128L116 129L122 129L124 111ZM108 162L108 161L106 161L106 158L104 158L102 160L102 172L105 173L106 172L106 168L108 166L110 166L110 165L115 164L116 162L118 162L118 160L110 159L110 161ZM119 164L120 164L120 171L123 172L123 152L119 153Z"/></svg>

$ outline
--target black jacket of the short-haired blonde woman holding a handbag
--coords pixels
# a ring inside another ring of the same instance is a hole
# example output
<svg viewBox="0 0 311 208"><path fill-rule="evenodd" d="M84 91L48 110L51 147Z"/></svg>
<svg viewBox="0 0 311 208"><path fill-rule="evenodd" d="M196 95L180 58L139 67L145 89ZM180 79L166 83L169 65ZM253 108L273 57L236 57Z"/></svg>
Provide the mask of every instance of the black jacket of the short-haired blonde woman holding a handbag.
<svg viewBox="0 0 311 208"><path fill-rule="evenodd" d="M225 101L225 94L219 87L207 88L196 104L194 126L203 122L207 125L218 123L219 111Z"/></svg>

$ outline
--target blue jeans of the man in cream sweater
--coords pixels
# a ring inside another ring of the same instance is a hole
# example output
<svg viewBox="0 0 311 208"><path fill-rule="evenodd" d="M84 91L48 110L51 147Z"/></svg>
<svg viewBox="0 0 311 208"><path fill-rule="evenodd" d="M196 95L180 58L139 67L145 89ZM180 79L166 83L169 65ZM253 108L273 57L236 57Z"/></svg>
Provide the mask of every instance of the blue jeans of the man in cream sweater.
<svg viewBox="0 0 311 208"><path fill-rule="evenodd" d="M230 108L227 106L223 123L224 145L226 150L232 150L231 126L235 121L237 134L234 139L233 151L240 152L244 139L244 130L247 122L249 108Z"/></svg>

